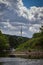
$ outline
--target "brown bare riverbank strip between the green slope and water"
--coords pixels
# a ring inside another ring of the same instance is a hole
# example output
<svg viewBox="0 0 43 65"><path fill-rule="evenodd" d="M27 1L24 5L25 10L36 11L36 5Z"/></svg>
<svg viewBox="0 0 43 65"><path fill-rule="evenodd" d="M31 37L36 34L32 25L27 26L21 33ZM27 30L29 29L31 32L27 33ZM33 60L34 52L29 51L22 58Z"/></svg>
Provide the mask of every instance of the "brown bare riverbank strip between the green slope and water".
<svg viewBox="0 0 43 65"><path fill-rule="evenodd" d="M38 51L38 52L14 52L9 54L9 57L21 57L21 58L30 58L30 59L43 59L43 52Z"/></svg>

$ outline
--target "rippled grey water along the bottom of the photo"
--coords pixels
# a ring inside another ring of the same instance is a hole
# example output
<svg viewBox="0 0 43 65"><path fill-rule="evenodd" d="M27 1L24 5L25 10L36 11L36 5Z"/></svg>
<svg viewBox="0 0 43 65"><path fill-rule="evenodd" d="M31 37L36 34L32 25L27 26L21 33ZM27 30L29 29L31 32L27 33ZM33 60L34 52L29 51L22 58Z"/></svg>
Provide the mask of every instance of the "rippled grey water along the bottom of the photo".
<svg viewBox="0 0 43 65"><path fill-rule="evenodd" d="M0 58L0 65L43 65L43 59Z"/></svg>

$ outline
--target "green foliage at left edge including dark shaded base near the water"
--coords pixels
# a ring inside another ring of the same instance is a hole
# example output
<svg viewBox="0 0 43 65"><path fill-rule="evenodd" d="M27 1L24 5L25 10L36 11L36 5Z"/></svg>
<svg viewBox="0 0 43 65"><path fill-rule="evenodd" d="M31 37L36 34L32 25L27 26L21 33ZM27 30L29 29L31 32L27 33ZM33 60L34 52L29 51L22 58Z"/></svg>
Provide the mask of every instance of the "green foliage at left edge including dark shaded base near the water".
<svg viewBox="0 0 43 65"><path fill-rule="evenodd" d="M9 42L7 40L7 37L4 36L0 31L0 56L3 56L6 54L4 50L9 49ZM4 54L5 53L5 54Z"/></svg>

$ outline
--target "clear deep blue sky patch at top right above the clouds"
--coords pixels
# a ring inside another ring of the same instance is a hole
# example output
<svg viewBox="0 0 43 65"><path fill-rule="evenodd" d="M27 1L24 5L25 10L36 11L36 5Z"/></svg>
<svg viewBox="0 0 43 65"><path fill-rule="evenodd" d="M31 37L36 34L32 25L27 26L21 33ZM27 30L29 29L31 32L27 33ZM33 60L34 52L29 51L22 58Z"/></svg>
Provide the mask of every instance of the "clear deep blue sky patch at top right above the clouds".
<svg viewBox="0 0 43 65"><path fill-rule="evenodd" d="M43 0L22 0L27 8L32 6L43 7Z"/></svg>

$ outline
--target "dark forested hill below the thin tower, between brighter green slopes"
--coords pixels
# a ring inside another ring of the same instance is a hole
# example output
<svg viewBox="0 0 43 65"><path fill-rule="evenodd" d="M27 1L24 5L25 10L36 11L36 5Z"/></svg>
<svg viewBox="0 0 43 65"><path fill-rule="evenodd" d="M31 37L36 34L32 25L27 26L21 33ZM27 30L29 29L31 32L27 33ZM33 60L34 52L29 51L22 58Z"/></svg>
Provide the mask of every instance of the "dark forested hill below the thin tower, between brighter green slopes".
<svg viewBox="0 0 43 65"><path fill-rule="evenodd" d="M6 34L4 34L4 36L7 37L11 48L17 48L20 44L23 44L24 42L29 40L29 38L21 36L13 36Z"/></svg>

